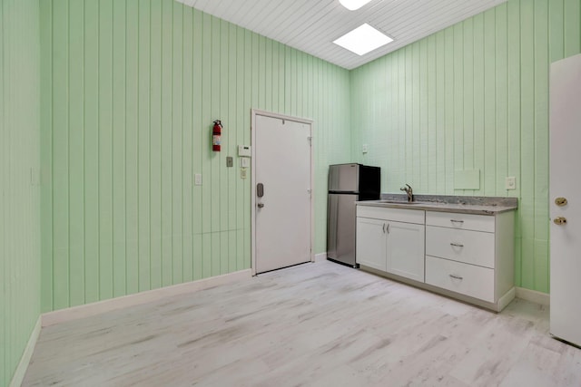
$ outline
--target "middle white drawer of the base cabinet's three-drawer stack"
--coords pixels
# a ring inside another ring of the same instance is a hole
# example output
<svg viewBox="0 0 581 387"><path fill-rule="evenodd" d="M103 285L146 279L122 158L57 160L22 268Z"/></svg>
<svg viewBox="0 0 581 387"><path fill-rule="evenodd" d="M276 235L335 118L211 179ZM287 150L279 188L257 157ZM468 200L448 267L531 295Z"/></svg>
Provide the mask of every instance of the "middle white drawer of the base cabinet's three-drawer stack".
<svg viewBox="0 0 581 387"><path fill-rule="evenodd" d="M494 234L446 227L426 227L426 254L494 268Z"/></svg>

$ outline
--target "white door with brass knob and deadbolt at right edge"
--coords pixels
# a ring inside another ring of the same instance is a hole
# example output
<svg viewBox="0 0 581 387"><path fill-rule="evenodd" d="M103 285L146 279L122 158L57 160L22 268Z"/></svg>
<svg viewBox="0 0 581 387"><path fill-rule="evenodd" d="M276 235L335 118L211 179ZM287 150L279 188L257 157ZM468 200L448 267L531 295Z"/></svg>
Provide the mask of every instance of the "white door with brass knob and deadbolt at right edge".
<svg viewBox="0 0 581 387"><path fill-rule="evenodd" d="M551 65L549 121L550 331L581 345L581 54Z"/></svg>

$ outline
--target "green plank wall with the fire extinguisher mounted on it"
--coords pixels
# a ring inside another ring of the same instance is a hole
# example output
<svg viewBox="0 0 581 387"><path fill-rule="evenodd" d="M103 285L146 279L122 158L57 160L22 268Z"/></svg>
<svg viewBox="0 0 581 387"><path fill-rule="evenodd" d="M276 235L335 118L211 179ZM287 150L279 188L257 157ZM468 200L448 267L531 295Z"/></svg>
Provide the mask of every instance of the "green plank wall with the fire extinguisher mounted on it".
<svg viewBox="0 0 581 387"><path fill-rule="evenodd" d="M350 160L347 70L172 0L41 7L43 311L250 267L250 178L225 159L250 144L251 108L314 120L325 250L327 166Z"/></svg>

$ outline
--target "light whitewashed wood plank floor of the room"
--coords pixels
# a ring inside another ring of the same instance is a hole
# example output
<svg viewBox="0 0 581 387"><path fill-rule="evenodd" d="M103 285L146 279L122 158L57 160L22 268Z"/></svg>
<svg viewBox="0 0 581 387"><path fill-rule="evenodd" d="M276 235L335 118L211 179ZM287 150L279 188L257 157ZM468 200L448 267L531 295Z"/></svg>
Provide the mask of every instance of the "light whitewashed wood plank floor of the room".
<svg viewBox="0 0 581 387"><path fill-rule="evenodd" d="M43 328L25 386L580 386L547 307L501 314L328 261Z"/></svg>

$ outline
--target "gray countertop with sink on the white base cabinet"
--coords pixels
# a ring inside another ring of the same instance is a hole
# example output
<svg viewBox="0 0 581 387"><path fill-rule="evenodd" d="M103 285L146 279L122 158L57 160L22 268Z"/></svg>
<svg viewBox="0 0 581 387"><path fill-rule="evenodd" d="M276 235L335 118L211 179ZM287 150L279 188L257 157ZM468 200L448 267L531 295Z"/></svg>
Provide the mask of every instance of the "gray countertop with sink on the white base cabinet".
<svg viewBox="0 0 581 387"><path fill-rule="evenodd" d="M458 212L464 214L495 215L518 207L517 198L466 197L445 195L414 195L408 203L406 195L381 194L379 200L356 202L358 206L423 209L427 211Z"/></svg>

